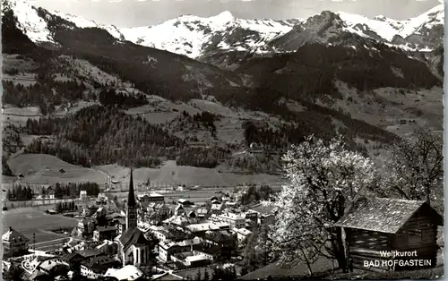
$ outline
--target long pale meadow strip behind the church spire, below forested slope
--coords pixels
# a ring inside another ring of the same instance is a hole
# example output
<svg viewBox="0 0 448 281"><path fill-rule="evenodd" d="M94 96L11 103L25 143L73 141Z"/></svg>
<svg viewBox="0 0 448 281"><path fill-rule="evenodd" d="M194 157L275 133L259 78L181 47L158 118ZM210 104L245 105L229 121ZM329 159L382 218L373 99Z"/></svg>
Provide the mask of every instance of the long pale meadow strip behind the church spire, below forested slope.
<svg viewBox="0 0 448 281"><path fill-rule="evenodd" d="M85 168L62 161L45 154L20 154L8 160L8 165L14 175L22 173L22 183L81 183L94 182L104 184L108 176L116 181L129 181L129 168L117 165L95 166ZM64 169L64 173L59 170ZM148 178L152 187L168 185L204 185L204 186L235 186L239 183L264 183L280 180L277 175L238 175L220 173L218 169L193 166L177 166L174 161L167 161L160 168L138 168L134 170L134 183L146 183ZM119 185L119 184L118 184Z"/></svg>

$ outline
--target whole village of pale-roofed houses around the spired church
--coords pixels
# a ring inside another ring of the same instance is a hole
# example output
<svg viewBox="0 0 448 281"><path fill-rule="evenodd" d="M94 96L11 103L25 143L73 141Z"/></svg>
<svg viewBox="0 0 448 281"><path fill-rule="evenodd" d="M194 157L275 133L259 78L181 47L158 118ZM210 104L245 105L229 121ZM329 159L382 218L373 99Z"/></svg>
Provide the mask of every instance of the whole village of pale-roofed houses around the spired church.
<svg viewBox="0 0 448 281"><path fill-rule="evenodd" d="M257 201L240 204L241 194L172 202L159 193L136 195L131 173L125 200L80 192L81 216L58 249L36 250L31 237L5 226L4 272L28 264L22 279L177 280L194 278L201 268L211 276L210 268L220 265L237 277L248 237L274 217L273 208ZM45 212L60 216L56 209Z"/></svg>

